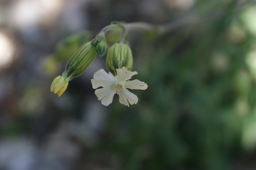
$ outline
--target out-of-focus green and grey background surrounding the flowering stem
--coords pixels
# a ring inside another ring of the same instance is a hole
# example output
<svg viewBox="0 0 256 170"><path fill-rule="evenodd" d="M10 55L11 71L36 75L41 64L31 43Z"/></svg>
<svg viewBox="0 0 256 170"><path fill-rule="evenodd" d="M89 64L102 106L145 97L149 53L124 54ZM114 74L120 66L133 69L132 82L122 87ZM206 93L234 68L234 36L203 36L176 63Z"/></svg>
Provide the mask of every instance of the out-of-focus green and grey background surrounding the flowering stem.
<svg viewBox="0 0 256 170"><path fill-rule="evenodd" d="M113 20L166 30L130 33L137 105L101 105L98 56L51 93ZM255 21L248 0L0 0L0 169L256 169Z"/></svg>

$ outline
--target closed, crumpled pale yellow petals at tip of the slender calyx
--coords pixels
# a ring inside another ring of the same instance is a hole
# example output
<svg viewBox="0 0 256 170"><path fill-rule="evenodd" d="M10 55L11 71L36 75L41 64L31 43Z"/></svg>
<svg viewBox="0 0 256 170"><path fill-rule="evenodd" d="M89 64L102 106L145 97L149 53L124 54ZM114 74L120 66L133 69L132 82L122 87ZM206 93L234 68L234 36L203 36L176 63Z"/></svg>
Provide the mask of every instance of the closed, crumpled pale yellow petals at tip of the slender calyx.
<svg viewBox="0 0 256 170"><path fill-rule="evenodd" d="M68 81L69 81L68 77L63 78L62 76L57 76L52 81L51 92L57 94L60 97L61 94L63 94L67 89Z"/></svg>

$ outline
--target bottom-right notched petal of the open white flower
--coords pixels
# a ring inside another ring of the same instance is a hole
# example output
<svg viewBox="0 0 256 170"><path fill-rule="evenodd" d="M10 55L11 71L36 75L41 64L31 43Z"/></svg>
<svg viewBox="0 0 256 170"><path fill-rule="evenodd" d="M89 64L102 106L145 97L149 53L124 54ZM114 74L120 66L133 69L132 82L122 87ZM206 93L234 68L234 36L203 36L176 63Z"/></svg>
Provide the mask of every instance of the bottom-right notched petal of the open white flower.
<svg viewBox="0 0 256 170"><path fill-rule="evenodd" d="M127 100L131 105L136 104L138 102L138 97L135 94L129 92L129 90L127 89L122 89L121 91L118 92L118 95L119 95L119 102L122 103L123 105L127 104ZM129 106L129 105L126 105L126 106Z"/></svg>

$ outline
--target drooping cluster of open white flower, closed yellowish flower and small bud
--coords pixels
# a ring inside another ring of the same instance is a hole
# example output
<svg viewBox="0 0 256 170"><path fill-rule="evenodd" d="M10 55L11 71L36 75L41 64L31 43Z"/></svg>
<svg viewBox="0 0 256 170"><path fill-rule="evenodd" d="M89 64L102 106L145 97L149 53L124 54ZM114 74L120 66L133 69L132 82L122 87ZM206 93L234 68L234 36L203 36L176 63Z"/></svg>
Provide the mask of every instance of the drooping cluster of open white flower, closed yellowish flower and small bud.
<svg viewBox="0 0 256 170"><path fill-rule="evenodd" d="M105 33L116 27L123 28L121 39L108 48ZM130 71L133 67L133 55L124 35L126 35L126 29L122 23L111 24L102 29L96 38L77 49L68 61L63 74L53 80L51 92L61 96L67 89L68 82L84 72L96 54L101 57L107 55L106 66L109 73L100 69L93 75L92 86L93 89L96 89L96 96L105 106L113 102L114 94L118 94L119 102L123 105L136 104L138 97L127 89L145 90L147 84L139 80L130 80L132 76L138 73Z"/></svg>

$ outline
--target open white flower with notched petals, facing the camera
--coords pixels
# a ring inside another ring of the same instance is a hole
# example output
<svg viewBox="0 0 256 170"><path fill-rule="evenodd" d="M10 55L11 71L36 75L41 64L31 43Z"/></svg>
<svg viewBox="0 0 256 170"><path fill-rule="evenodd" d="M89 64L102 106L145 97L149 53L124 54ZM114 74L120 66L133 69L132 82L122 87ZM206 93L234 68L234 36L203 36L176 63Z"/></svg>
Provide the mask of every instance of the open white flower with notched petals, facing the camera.
<svg viewBox="0 0 256 170"><path fill-rule="evenodd" d="M92 79L93 89L99 100L101 100L102 105L108 106L113 101L114 94L119 95L119 102L123 105L129 106L136 104L138 102L138 97L129 92L127 89L147 89L147 84L139 81L132 80L131 76L138 74L137 72L127 71L125 67L116 69L117 76L113 76L112 73L106 73L104 69L100 69L94 73ZM97 89L102 87L101 89ZM129 102L129 103L128 103Z"/></svg>

